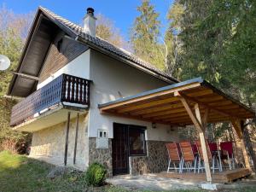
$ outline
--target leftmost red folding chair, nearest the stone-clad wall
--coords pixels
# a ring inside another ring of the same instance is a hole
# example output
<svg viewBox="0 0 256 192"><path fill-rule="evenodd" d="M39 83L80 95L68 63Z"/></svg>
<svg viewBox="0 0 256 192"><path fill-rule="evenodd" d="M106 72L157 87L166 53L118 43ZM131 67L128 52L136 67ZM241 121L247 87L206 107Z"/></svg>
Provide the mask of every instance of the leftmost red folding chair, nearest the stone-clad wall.
<svg viewBox="0 0 256 192"><path fill-rule="evenodd" d="M168 168L167 168L167 173L169 173L170 170L174 169L175 172L177 170L180 172L181 165L182 165L182 159L181 155L179 153L180 148L177 143L166 143L166 148L168 151L168 156L169 156L169 163L168 163ZM177 167L178 164L178 167ZM171 166L173 165L173 166Z"/></svg>

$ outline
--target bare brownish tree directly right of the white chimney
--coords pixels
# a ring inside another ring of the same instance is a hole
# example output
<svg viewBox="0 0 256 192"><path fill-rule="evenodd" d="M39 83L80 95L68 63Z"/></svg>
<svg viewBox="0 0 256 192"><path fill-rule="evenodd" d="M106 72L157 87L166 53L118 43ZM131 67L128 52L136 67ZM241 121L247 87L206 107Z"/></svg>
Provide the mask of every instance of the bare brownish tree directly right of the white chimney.
<svg viewBox="0 0 256 192"><path fill-rule="evenodd" d="M96 35L118 47L124 47L125 41L120 35L119 29L114 26L113 21L104 15L96 15Z"/></svg>

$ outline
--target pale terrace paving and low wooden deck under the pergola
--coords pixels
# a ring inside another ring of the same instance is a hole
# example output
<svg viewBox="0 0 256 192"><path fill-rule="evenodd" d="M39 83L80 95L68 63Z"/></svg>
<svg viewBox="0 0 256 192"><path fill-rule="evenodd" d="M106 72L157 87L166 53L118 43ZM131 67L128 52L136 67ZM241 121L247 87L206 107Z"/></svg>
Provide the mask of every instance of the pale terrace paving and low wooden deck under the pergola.
<svg viewBox="0 0 256 192"><path fill-rule="evenodd" d="M225 179L234 177L245 177L251 172L247 169L237 169L232 171L226 171L222 173L212 174L213 182L218 183L217 189L227 189L228 191L236 189L236 191L242 190L242 188L255 189L256 178L250 177L242 180L237 180L234 183L225 184ZM224 179L224 180L223 180ZM237 179L237 178L236 178ZM131 176L120 175L112 178L108 178L108 183L112 183L115 186L120 186L129 190L150 190L150 191L170 191L170 190L196 190L201 191L201 184L206 182L205 173L154 173L148 175Z"/></svg>

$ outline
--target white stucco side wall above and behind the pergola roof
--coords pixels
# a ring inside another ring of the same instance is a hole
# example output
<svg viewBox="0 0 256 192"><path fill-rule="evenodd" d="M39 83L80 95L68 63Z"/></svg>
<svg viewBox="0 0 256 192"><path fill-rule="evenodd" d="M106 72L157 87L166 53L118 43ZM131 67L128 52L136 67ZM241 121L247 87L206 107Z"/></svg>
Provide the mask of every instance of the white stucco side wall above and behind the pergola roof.
<svg viewBox="0 0 256 192"><path fill-rule="evenodd" d="M170 125L158 124L156 129L152 129L150 122L102 115L98 108L98 104L163 87L166 82L94 50L90 50L90 79L93 83L90 89L89 137L96 137L97 130L104 129L113 138L113 122L116 122L147 126L148 140L177 140L177 131L170 131Z"/></svg>

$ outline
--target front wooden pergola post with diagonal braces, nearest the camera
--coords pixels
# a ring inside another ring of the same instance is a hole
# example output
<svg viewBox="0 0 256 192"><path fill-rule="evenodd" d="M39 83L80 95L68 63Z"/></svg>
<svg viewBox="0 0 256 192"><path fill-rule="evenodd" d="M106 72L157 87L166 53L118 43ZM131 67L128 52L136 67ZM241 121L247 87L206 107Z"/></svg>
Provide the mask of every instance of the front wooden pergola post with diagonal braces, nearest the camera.
<svg viewBox="0 0 256 192"><path fill-rule="evenodd" d="M204 114L204 117L202 120L198 103L195 103L195 113L193 113L193 110L189 107L189 103L186 101L185 98L183 98L183 96L181 96L178 92L175 92L174 96L177 96L179 100L183 103L184 108L186 109L190 119L195 125L195 129L199 132L201 149L202 149L202 154L203 154L204 163L205 163L205 170L207 175L207 182L212 183L212 174L211 174L211 168L210 168L208 154L207 154L207 144L206 144L206 139L204 134L206 127L203 127L203 125L204 126L207 125L208 109L207 109L207 113Z"/></svg>

